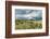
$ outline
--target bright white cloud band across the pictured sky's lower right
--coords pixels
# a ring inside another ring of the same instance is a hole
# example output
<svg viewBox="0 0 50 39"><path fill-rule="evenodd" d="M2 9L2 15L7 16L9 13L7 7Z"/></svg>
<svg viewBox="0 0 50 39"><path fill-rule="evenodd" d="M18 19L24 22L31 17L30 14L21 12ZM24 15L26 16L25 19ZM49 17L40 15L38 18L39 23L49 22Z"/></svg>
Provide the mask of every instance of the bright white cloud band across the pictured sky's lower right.
<svg viewBox="0 0 50 39"><path fill-rule="evenodd" d="M26 13L28 13L30 10L27 10L26 11ZM22 15L22 14L17 14L16 15L16 17L38 17L38 16L40 16L40 14L41 14L41 12L40 11L33 11L33 12L30 12L30 13L28 13L28 14L24 14L24 15Z"/></svg>

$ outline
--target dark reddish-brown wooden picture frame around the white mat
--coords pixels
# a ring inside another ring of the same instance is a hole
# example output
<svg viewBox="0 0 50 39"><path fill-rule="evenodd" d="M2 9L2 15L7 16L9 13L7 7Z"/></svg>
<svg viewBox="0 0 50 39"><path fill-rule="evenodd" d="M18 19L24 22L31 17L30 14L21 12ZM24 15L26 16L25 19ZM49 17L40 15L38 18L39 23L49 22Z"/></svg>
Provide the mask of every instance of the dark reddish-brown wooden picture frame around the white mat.
<svg viewBox="0 0 50 39"><path fill-rule="evenodd" d="M11 12L12 5L45 6L46 8L46 32L12 35L12 29L11 29L12 28L12 12ZM37 37L37 36L48 36L48 35L49 35L49 4L48 3L5 1L5 38Z"/></svg>

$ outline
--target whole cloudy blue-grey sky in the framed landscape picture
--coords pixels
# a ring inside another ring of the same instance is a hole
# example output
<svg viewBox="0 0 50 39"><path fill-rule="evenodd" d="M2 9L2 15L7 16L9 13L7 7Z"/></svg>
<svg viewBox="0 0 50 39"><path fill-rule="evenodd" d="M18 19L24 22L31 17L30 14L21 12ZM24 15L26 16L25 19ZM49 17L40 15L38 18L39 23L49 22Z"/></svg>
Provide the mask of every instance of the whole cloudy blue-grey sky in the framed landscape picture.
<svg viewBox="0 0 50 39"><path fill-rule="evenodd" d="M15 9L15 17L32 18L41 17L42 10L32 10L32 9Z"/></svg>

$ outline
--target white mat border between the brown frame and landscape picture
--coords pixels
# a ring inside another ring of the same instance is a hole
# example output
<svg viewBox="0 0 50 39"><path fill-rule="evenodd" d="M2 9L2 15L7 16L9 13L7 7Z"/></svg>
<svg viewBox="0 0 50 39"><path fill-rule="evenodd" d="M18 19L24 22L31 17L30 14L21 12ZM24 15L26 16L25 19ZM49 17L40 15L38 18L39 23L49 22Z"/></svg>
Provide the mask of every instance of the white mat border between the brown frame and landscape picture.
<svg viewBox="0 0 50 39"><path fill-rule="evenodd" d="M15 9L33 9L42 10L42 29L16 29L15 30ZM12 34L32 34L32 32L46 32L46 8L45 6L24 6L12 5Z"/></svg>

